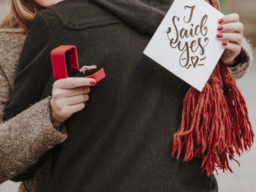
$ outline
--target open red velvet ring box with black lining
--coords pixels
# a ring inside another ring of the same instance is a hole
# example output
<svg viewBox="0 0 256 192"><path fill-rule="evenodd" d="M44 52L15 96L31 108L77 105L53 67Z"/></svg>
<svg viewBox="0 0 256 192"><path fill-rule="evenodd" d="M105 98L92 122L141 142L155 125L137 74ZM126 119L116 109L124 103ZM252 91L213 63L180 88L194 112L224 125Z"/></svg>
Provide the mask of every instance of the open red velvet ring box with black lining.
<svg viewBox="0 0 256 192"><path fill-rule="evenodd" d="M68 77L87 77L99 82L106 75L103 68L79 71L76 46L60 45L51 52L53 76L56 80Z"/></svg>

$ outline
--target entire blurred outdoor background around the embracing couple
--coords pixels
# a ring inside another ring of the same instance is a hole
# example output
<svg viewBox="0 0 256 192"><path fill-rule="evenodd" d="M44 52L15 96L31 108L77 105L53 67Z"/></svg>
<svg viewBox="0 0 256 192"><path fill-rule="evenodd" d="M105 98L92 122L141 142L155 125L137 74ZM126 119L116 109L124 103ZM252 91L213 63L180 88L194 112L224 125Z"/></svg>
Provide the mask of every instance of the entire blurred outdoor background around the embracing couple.
<svg viewBox="0 0 256 192"><path fill-rule="evenodd" d="M219 0L221 12L225 15L230 13L238 13L240 22L244 24L244 36L250 40L250 43L256 47L256 0ZM0 20L9 11L9 0L0 0ZM254 49L254 48L253 48ZM244 95L247 103L249 117L252 123L254 133L256 133L256 53L255 60L246 75L236 80L238 88ZM255 134L256 135L256 134ZM219 185L219 192L254 192L256 191L256 146L252 146L249 153L244 153L236 162L231 163L233 173L223 173L219 171L219 175L215 176ZM17 192L19 183L6 181L0 185L0 192Z"/></svg>

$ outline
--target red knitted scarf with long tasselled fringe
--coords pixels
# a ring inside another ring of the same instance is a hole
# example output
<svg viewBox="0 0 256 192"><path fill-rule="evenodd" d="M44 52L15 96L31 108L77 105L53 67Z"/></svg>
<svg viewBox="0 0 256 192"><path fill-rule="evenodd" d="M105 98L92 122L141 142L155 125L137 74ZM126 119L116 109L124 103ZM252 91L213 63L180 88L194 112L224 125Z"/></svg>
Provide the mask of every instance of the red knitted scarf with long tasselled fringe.
<svg viewBox="0 0 256 192"><path fill-rule="evenodd" d="M206 1L220 10L218 0ZM184 151L185 161L202 158L201 171L208 176L217 172L216 168L232 172L228 158L236 161L234 154L240 156L250 149L253 137L244 97L226 65L219 61L202 92L191 87L183 100L172 156L177 153L179 159Z"/></svg>

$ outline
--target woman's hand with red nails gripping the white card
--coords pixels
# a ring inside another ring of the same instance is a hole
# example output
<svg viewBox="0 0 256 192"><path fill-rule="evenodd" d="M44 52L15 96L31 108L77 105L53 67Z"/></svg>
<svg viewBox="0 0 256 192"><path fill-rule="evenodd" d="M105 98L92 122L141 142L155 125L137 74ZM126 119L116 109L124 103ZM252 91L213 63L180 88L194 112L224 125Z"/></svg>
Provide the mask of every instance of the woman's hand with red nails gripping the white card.
<svg viewBox="0 0 256 192"><path fill-rule="evenodd" d="M244 26L239 22L239 15L236 13L222 17L219 19L219 23L218 31L220 33L217 34L217 38L230 40L229 43L222 42L226 49L220 59L226 65L232 66L240 60L238 55L241 52Z"/></svg>

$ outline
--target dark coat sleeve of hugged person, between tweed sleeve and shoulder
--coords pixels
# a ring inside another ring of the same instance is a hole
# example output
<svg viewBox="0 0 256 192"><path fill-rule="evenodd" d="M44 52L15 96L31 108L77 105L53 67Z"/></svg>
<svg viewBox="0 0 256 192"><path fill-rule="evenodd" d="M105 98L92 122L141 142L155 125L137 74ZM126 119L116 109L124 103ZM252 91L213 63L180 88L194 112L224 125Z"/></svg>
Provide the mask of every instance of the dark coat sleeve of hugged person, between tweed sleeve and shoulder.
<svg viewBox="0 0 256 192"><path fill-rule="evenodd" d="M52 75L51 51L55 48L52 29L43 13L36 14L22 47L17 76L5 119L21 113L44 99L44 88Z"/></svg>

